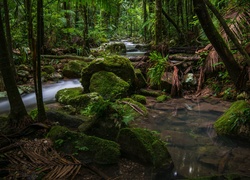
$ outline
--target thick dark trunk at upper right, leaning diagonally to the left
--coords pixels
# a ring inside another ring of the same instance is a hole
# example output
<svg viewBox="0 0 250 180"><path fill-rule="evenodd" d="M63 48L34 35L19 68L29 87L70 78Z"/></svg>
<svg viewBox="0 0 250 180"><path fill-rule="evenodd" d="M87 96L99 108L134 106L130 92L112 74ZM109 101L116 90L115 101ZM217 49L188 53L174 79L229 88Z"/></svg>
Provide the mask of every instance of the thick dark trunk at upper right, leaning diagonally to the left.
<svg viewBox="0 0 250 180"><path fill-rule="evenodd" d="M193 0L193 4L194 10L206 36L221 57L229 73L229 76L231 77L234 85L237 87L237 81L241 72L240 66L235 61L233 54L216 30L206 9L205 2L203 0Z"/></svg>

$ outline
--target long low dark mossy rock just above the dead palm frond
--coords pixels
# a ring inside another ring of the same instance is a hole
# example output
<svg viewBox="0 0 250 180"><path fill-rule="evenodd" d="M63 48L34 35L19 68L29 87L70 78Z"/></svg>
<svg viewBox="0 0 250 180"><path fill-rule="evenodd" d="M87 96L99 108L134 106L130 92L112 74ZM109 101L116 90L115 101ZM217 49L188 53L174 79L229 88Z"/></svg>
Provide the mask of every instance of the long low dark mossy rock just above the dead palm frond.
<svg viewBox="0 0 250 180"><path fill-rule="evenodd" d="M57 150L73 154L82 162L114 164L120 158L120 146L116 142L70 131L63 126L53 126L47 137Z"/></svg>

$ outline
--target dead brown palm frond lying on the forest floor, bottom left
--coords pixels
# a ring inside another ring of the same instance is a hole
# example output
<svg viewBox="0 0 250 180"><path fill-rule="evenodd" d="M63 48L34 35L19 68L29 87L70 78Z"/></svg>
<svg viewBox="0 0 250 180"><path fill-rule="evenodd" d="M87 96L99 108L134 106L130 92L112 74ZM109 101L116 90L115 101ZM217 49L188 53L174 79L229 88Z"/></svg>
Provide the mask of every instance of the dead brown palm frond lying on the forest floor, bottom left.
<svg viewBox="0 0 250 180"><path fill-rule="evenodd" d="M19 147L5 154L11 179L74 179L82 166L73 156L60 156L49 139L21 140Z"/></svg>

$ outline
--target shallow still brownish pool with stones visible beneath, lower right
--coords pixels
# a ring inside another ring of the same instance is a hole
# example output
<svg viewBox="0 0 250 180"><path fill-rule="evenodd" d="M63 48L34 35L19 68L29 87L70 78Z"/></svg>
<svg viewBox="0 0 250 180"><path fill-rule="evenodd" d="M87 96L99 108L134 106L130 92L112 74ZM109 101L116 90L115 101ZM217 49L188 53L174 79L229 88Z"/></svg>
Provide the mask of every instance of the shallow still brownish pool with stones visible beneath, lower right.
<svg viewBox="0 0 250 180"><path fill-rule="evenodd" d="M219 137L213 128L229 106L229 102L221 101L211 104L172 99L149 105L149 117L138 124L159 132L168 144L175 166L173 179L223 173L250 176L249 143Z"/></svg>

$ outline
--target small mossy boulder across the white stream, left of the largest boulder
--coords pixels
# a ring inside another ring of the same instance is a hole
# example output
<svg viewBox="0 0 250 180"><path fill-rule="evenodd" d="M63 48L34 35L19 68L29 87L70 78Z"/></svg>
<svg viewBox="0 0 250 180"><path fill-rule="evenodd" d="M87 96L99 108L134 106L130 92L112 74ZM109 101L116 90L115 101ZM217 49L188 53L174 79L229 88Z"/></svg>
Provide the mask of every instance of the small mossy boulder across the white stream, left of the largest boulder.
<svg viewBox="0 0 250 180"><path fill-rule="evenodd" d="M69 61L63 68L63 76L67 78L80 78L82 68L86 66L87 63L81 60Z"/></svg>

